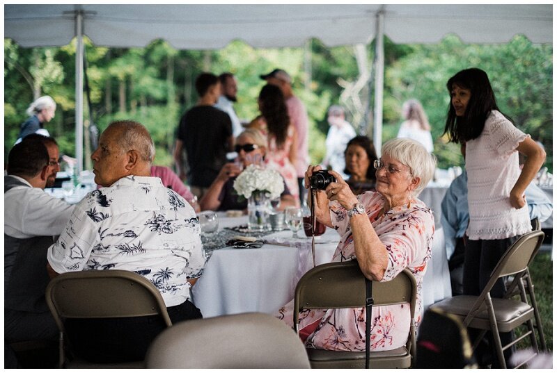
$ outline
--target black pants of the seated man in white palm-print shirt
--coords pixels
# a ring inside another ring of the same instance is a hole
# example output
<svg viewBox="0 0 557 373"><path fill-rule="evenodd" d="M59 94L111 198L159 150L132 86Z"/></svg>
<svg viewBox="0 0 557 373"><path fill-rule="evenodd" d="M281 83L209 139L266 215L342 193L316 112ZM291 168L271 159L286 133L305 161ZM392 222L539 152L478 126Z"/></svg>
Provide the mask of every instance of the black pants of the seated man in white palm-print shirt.
<svg viewBox="0 0 557 373"><path fill-rule="evenodd" d="M202 317L190 301L167 310L173 324ZM166 329L166 324L159 315L68 319L65 329L71 350L80 358L94 363L119 363L143 360L150 343Z"/></svg>

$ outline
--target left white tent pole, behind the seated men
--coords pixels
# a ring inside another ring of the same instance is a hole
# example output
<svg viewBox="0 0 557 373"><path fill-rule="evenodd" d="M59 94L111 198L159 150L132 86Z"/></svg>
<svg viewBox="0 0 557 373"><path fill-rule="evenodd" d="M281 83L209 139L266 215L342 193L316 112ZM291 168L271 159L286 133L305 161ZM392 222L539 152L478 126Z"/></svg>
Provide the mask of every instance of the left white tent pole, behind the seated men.
<svg viewBox="0 0 557 373"><path fill-rule="evenodd" d="M75 158L77 174L83 170L83 11L75 12Z"/></svg>

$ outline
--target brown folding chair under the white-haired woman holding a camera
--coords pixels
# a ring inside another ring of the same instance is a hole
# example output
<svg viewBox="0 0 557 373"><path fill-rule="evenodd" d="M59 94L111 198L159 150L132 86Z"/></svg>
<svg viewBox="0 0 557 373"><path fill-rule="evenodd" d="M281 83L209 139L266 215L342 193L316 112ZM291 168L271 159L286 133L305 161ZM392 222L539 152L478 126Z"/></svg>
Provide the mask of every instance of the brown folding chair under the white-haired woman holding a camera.
<svg viewBox="0 0 557 373"><path fill-rule="evenodd" d="M392 281L372 282L374 306L410 304L410 325L405 346L391 351L372 351L370 367L407 368L416 356L416 279L404 270ZM299 311L311 308L359 308L366 306L366 281L356 260L317 265L301 277L294 297L294 325ZM306 349L312 368L363 368L366 352Z"/></svg>

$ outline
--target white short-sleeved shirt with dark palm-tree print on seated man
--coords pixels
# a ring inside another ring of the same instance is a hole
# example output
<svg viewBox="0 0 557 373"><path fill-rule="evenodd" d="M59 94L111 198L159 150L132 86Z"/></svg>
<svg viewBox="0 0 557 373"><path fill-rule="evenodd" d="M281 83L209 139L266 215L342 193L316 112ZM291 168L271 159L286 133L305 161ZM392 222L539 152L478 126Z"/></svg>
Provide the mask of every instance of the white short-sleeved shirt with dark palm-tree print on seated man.
<svg viewBox="0 0 557 373"><path fill-rule="evenodd" d="M126 176L74 208L47 258L58 273L127 270L150 280L166 307L189 299L205 261L194 209L157 177Z"/></svg>

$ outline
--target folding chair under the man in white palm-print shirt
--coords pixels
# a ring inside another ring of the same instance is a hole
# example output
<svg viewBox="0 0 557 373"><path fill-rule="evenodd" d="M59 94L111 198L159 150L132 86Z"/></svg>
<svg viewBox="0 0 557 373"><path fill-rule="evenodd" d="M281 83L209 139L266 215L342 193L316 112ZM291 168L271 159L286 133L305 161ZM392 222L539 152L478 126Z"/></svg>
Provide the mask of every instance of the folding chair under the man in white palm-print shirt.
<svg viewBox="0 0 557 373"><path fill-rule="evenodd" d="M79 358L66 361L65 319L160 315L166 326L172 325L159 290L143 276L129 271L93 270L60 274L47 286L46 300L60 331L59 367L143 367L143 361L113 364L89 363Z"/></svg>

